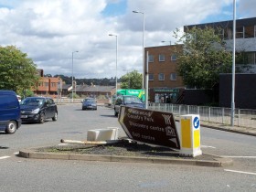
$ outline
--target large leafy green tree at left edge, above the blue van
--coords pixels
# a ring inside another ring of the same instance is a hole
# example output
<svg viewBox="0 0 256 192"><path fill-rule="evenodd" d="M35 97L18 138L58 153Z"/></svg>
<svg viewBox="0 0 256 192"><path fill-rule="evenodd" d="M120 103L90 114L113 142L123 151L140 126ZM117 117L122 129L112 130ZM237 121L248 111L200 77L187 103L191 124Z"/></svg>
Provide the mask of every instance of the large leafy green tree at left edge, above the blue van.
<svg viewBox="0 0 256 192"><path fill-rule="evenodd" d="M0 89L18 94L37 83L37 66L15 46L0 47Z"/></svg>

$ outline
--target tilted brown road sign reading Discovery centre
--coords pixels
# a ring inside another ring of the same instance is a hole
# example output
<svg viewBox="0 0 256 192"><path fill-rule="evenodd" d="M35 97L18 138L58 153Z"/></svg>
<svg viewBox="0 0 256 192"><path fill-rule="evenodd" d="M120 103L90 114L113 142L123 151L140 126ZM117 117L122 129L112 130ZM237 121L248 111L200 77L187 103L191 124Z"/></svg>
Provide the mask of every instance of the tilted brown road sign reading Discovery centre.
<svg viewBox="0 0 256 192"><path fill-rule="evenodd" d="M180 149L172 112L121 106L118 121L130 139Z"/></svg>

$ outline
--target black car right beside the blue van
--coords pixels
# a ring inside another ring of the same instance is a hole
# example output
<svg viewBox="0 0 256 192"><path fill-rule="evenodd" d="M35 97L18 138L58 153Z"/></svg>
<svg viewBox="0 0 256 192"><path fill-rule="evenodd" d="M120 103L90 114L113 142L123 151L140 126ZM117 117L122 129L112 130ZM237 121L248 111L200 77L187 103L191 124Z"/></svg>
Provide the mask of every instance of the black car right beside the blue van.
<svg viewBox="0 0 256 192"><path fill-rule="evenodd" d="M20 113L22 123L44 123L46 119L58 119L57 105L48 97L27 97L20 102Z"/></svg>

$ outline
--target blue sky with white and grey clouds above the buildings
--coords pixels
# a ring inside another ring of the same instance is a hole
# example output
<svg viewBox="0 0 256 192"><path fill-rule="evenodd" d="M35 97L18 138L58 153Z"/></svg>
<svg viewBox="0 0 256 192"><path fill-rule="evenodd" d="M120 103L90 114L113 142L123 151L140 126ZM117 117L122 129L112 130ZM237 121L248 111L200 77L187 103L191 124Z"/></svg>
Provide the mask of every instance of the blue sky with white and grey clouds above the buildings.
<svg viewBox="0 0 256 192"><path fill-rule="evenodd" d="M120 78L142 72L143 39L145 48L174 44L176 28L232 20L233 2L0 0L0 46L16 46L52 76ZM236 0L236 17L255 17L255 7Z"/></svg>

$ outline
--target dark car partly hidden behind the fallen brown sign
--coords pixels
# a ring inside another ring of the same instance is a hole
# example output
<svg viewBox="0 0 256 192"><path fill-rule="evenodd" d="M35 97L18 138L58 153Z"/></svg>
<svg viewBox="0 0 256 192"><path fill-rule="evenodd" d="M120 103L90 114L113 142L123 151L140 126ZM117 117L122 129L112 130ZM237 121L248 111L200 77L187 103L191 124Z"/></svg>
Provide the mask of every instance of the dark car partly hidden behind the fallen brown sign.
<svg viewBox="0 0 256 192"><path fill-rule="evenodd" d="M116 101L114 102L114 116L118 116L120 105L126 105L129 107L135 108L144 108L144 102L141 101L138 97L132 95L122 95L118 96Z"/></svg>

